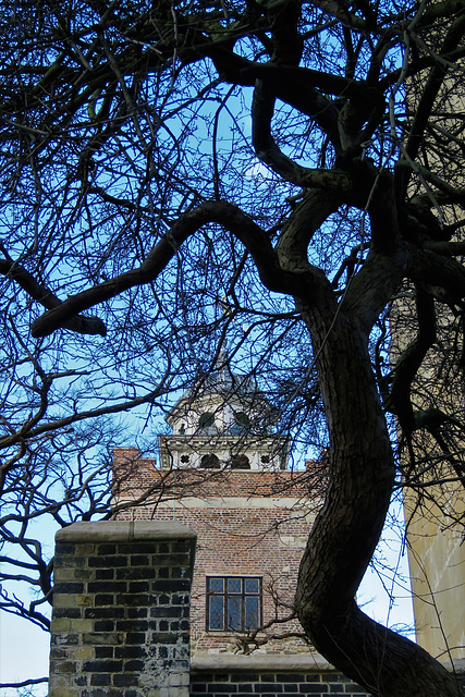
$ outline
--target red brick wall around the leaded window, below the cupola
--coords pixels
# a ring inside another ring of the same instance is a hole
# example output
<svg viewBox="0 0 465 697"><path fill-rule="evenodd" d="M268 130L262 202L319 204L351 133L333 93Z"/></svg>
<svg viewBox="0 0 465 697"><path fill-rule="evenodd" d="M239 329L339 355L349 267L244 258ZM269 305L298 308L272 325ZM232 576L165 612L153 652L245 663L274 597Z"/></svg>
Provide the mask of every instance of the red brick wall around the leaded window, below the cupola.
<svg viewBox="0 0 465 697"><path fill-rule="evenodd" d="M142 505L127 508L118 517L174 517L197 533L191 607L193 651L232 650L237 643L234 633L206 629L206 576L261 576L264 623L277 613L282 617L291 612L313 518L308 504L311 473L164 472L155 468L154 460L137 458L135 449L117 449L114 466L117 480L121 479L118 492L124 499L140 498L147 488L152 491ZM317 503L314 501L314 510ZM261 650L306 650L299 638L272 638L273 634L295 631L299 631L295 622L273 625L258 637L268 637Z"/></svg>

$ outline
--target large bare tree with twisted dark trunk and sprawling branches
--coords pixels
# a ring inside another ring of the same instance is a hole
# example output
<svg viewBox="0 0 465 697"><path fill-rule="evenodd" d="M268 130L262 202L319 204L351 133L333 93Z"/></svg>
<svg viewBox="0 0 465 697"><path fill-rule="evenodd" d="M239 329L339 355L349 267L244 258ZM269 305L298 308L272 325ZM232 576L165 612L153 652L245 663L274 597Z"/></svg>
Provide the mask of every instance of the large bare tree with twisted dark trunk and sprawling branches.
<svg viewBox="0 0 465 697"><path fill-rule="evenodd" d="M167 408L228 339L283 428L329 448L295 608L382 697L461 694L354 597L396 486L387 413L407 482L463 481L464 10L1 8L2 486L60 429Z"/></svg>

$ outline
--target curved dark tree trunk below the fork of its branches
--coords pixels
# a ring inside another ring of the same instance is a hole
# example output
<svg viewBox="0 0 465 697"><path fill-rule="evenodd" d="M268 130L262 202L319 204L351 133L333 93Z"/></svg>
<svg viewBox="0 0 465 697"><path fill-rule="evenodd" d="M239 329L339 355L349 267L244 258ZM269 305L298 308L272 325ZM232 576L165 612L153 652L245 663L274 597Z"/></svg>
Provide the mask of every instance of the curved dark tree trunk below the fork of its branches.
<svg viewBox="0 0 465 697"><path fill-rule="evenodd" d="M303 315L330 432L330 486L301 564L299 621L316 649L372 695L458 697L454 676L429 653L355 603L389 508L393 455L365 332L330 301Z"/></svg>

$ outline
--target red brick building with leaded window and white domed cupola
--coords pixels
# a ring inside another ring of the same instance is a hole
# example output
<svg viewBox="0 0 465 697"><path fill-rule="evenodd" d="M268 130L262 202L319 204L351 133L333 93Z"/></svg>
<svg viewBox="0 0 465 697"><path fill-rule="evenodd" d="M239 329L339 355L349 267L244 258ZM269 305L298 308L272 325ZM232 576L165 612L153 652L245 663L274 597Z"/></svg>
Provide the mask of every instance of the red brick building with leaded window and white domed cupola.
<svg viewBox="0 0 465 697"><path fill-rule="evenodd" d="M118 517L174 519L197 534L194 656L238 647L308 651L298 623L282 620L292 614L298 564L319 504L308 496L317 490L317 463L306 472L289 469L278 418L253 380L223 368L168 414L171 432L159 437L157 458L134 448L114 450Z"/></svg>

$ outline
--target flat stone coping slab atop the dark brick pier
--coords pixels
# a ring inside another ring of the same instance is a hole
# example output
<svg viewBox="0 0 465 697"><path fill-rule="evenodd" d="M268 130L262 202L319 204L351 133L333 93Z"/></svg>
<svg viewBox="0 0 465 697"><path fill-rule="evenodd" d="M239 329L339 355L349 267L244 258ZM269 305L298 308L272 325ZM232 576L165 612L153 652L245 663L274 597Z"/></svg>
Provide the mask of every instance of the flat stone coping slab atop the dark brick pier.
<svg viewBox="0 0 465 697"><path fill-rule="evenodd" d="M132 542L188 539L197 534L176 521L96 521L73 523L58 530L57 542Z"/></svg>

